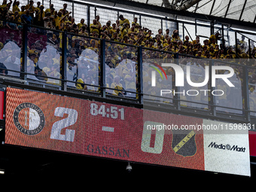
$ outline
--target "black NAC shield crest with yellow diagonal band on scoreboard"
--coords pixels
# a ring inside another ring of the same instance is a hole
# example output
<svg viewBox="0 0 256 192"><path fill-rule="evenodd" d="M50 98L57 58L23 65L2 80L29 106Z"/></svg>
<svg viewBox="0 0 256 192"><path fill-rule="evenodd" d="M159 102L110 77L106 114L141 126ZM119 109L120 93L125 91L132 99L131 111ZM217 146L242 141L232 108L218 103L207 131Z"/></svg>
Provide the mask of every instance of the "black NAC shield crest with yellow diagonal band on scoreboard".
<svg viewBox="0 0 256 192"><path fill-rule="evenodd" d="M183 157L193 156L197 152L194 130L175 130L172 135L172 150Z"/></svg>

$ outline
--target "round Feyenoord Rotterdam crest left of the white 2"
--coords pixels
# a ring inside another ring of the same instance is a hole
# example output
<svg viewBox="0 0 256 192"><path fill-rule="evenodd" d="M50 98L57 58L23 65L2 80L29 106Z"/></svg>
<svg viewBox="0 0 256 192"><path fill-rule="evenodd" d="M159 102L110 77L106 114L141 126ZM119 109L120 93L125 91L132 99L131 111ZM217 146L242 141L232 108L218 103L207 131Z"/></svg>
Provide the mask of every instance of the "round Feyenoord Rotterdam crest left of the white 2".
<svg viewBox="0 0 256 192"><path fill-rule="evenodd" d="M14 124L26 135L33 136L44 129L44 113L37 105L23 102L14 110Z"/></svg>

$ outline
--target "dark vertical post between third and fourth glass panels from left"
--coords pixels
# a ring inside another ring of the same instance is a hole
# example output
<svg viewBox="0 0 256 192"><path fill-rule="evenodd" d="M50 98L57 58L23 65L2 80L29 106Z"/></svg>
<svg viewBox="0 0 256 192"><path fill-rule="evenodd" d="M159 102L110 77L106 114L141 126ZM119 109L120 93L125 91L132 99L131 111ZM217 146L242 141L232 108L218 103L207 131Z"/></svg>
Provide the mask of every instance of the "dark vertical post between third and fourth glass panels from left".
<svg viewBox="0 0 256 192"><path fill-rule="evenodd" d="M99 71L99 85L100 93L105 98L105 39L100 40L100 71Z"/></svg>

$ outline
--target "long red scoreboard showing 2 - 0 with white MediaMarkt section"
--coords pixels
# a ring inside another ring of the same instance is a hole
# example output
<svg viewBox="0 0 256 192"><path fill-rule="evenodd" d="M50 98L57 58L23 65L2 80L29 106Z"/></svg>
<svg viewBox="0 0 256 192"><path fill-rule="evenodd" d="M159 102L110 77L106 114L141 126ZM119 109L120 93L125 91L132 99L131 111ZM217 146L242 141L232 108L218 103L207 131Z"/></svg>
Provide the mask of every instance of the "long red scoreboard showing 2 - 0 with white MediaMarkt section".
<svg viewBox="0 0 256 192"><path fill-rule="evenodd" d="M229 136L198 129L217 124L227 123L29 90L6 93L6 144L250 175L248 130Z"/></svg>

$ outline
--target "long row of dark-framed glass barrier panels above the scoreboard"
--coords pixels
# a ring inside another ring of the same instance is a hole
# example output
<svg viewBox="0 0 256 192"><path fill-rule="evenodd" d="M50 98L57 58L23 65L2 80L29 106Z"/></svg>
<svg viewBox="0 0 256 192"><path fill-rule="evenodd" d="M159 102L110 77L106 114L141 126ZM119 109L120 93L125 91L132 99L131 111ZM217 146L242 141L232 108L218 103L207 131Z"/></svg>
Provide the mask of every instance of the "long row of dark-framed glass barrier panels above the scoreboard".
<svg viewBox="0 0 256 192"><path fill-rule="evenodd" d="M74 96L83 93L194 115L236 117L242 122L256 117L254 59L243 59L246 65L240 65L236 62L242 63L241 60L202 59L21 23L15 23L18 30L8 29L5 22L0 29L2 79L17 78L34 87L62 90ZM175 72L164 68L166 79L157 73L157 86L152 87L152 66L166 62L181 66L185 74L185 66L191 66L190 78L195 82L205 79L209 66L209 82L200 90L190 87L187 81L184 87L176 87ZM227 87L221 81L221 87L212 87L212 66L234 69L230 81L235 87ZM221 89L225 96L212 94ZM172 93L161 95L160 90Z"/></svg>

